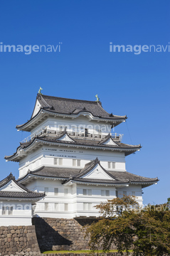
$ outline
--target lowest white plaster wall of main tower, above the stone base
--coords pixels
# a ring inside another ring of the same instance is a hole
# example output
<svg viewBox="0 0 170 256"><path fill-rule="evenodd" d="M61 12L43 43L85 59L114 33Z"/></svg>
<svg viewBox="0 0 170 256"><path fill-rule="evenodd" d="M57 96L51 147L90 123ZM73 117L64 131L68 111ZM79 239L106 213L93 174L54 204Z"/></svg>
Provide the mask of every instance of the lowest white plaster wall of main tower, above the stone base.
<svg viewBox="0 0 170 256"><path fill-rule="evenodd" d="M130 185L123 188L115 186L95 186L85 184L73 184L72 186L63 186L62 181L53 179L40 179L31 181L27 188L32 191L44 192L48 188L48 195L36 203L34 215L46 218L75 218L75 217L95 217L99 216L98 210L94 207L99 203L106 202L107 199L116 198L116 191L119 197L122 197L123 192L127 195L132 195L135 192L137 202L142 206L142 186ZM58 188L58 196L54 195L54 188ZM65 195L65 188L68 188L68 195ZM91 189L92 196L83 195L83 189ZM101 196L101 190L109 190L110 196ZM48 210L45 209L45 203L48 203ZM58 203L57 210L55 203ZM68 203L68 211L65 211L64 204ZM83 203L91 203L91 210L84 210Z"/></svg>

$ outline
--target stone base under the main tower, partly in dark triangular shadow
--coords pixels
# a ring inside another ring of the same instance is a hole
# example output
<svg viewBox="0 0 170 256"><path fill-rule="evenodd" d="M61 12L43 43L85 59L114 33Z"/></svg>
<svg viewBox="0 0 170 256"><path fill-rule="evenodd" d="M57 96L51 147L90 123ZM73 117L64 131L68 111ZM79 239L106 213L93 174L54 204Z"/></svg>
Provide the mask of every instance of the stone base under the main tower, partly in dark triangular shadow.
<svg viewBox="0 0 170 256"><path fill-rule="evenodd" d="M43 250L87 250L89 238L84 238L90 219L33 218L38 245Z"/></svg>

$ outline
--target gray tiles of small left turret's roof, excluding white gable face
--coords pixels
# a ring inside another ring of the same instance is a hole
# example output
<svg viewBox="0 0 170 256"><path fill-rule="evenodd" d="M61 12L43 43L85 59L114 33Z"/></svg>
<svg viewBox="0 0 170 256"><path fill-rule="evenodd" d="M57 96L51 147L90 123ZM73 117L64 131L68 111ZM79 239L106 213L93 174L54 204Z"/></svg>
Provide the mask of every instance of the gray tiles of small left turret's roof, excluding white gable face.
<svg viewBox="0 0 170 256"><path fill-rule="evenodd" d="M23 189L23 192L0 191L0 198L43 198L44 196L46 196L45 193L30 191L28 188L18 183L12 174L9 174L9 176L0 181L0 188L9 183L9 181L14 181L14 183L16 183L18 187Z"/></svg>

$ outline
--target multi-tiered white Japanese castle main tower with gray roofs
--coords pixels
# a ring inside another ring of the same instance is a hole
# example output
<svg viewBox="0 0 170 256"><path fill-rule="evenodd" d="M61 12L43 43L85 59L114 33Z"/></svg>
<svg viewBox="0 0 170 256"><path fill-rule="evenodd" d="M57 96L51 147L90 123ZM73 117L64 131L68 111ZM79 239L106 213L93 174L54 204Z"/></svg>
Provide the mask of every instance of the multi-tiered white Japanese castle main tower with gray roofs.
<svg viewBox="0 0 170 256"><path fill-rule="evenodd" d="M126 119L107 113L98 98L93 102L38 93L31 119L16 126L31 135L16 153L5 156L19 163L15 183L36 193L34 216L95 218L97 203L123 194L137 196L142 205L142 188L158 179L126 170L125 157L141 149L122 143L122 134L111 133Z"/></svg>

